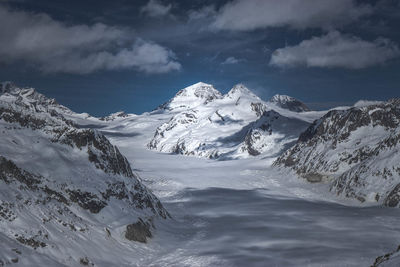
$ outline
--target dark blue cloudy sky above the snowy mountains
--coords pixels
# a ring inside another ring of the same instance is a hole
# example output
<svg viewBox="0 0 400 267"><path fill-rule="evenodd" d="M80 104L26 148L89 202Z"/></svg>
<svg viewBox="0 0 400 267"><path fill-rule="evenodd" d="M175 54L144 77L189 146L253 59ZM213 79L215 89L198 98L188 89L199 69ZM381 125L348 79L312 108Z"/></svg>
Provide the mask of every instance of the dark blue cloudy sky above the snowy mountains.
<svg viewBox="0 0 400 267"><path fill-rule="evenodd" d="M314 108L399 97L400 2L318 2L0 0L0 80L98 116L198 81Z"/></svg>

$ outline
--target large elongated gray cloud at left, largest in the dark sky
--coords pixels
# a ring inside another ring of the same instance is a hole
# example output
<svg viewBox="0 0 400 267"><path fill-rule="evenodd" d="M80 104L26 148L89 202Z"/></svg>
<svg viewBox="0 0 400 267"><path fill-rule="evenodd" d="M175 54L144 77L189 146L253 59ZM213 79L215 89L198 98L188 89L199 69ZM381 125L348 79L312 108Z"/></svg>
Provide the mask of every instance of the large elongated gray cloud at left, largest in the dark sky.
<svg viewBox="0 0 400 267"><path fill-rule="evenodd" d="M124 28L67 26L45 14L0 6L0 62L22 61L43 72L85 74L134 69L147 73L179 70L174 53L134 37Z"/></svg>

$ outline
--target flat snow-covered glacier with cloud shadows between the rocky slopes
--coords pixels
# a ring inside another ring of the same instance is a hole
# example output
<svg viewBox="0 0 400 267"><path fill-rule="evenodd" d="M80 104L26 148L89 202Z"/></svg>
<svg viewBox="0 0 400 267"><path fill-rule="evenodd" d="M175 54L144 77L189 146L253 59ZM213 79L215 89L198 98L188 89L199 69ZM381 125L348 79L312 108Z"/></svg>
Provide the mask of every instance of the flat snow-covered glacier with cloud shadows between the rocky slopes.
<svg viewBox="0 0 400 267"><path fill-rule="evenodd" d="M369 266L400 244L398 209L338 199L328 184L275 170L273 158L215 161L147 150L167 119L144 114L102 129L174 218L160 226L151 243L160 250L146 265Z"/></svg>

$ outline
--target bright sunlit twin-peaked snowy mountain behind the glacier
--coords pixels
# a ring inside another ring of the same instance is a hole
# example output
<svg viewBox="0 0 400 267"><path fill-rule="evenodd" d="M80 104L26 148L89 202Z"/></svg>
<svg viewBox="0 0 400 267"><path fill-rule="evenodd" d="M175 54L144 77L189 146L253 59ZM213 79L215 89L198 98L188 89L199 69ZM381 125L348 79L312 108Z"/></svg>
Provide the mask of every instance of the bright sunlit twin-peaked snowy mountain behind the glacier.
<svg viewBox="0 0 400 267"><path fill-rule="evenodd" d="M242 84L222 95L211 85L197 83L163 107L173 110L173 116L157 128L148 147L207 158L276 155L309 126L310 117L318 116L301 117L264 102Z"/></svg>

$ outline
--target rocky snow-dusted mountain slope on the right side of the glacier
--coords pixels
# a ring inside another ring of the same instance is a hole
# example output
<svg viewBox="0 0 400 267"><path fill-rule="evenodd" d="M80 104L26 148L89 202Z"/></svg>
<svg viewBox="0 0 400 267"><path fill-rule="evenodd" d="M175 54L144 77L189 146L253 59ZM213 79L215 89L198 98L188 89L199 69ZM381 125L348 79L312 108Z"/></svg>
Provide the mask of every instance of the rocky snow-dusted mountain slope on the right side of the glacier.
<svg viewBox="0 0 400 267"><path fill-rule="evenodd" d="M316 120L275 165L338 195L397 207L400 202L400 100L332 110Z"/></svg>

